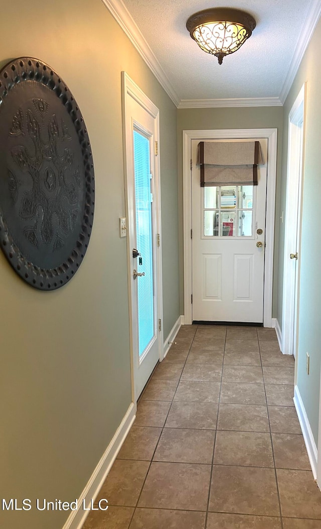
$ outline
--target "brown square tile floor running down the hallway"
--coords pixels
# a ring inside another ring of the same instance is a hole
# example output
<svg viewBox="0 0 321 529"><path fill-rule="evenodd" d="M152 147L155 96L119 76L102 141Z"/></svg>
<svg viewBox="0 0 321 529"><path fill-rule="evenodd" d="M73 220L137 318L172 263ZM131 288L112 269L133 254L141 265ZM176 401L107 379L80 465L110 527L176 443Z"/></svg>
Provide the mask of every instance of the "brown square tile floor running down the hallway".
<svg viewBox="0 0 321 529"><path fill-rule="evenodd" d="M181 328L83 529L320 529L274 330Z"/></svg>

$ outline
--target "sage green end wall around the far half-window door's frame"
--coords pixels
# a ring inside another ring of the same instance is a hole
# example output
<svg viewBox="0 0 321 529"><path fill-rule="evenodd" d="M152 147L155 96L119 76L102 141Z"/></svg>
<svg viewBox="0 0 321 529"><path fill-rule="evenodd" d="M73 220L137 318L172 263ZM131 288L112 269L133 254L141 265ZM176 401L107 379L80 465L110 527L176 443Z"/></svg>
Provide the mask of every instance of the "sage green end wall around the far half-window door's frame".
<svg viewBox="0 0 321 529"><path fill-rule="evenodd" d="M206 129L278 129L277 185L276 185L276 223L275 254L273 270L273 308L272 316L277 313L277 263L279 231L279 189L282 145L281 106L240 107L240 108L181 108L178 109L178 189L180 211L180 303L184 314L184 266L183 266L183 130Z"/></svg>

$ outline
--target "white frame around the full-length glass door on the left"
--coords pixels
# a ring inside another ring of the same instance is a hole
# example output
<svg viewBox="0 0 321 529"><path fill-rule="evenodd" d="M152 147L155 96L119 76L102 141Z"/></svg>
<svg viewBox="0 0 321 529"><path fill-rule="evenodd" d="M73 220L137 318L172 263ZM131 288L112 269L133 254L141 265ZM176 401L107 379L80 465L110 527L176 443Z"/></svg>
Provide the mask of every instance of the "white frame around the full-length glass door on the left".
<svg viewBox="0 0 321 529"><path fill-rule="evenodd" d="M126 144L128 141L133 141L131 138L130 132L126 130L126 121L127 121L127 98L133 98L146 112L148 112L156 121L156 135L157 138L154 138L158 142L158 156L155 156L154 163L154 195L153 203L156 205L156 232L159 235L158 240L162 241L162 225L161 225L161 182L160 182L160 149L159 149L159 110L154 105L152 101L144 94L144 92L134 83L132 79L126 74L125 71L121 72L121 98L122 98L122 131L123 131L123 145L124 145L124 174L125 174L125 203L126 203L126 217L127 217L127 274L128 274L128 305L129 305L129 338L130 338L130 369L131 369L131 397L133 403L137 403L137 398L139 395L136 395L135 391L135 358L134 358L134 339L133 339L133 321L134 318L137 318L137 307L133 306L132 300L132 289L131 289L131 277L133 270L131 267L131 251L130 248L130 236L129 230L134 232L134 226L130 226L128 223L129 214L133 211L134 208L134 191L129 189L128 183L132 180L132 177L128 174L127 168L127 149ZM130 136L130 138L129 138ZM153 230L154 231L154 230ZM131 233L131 238L134 234ZM162 245L156 243L156 268L157 268L157 281L156 281L156 291L157 291L157 314L158 319L163 322L163 281L162 281ZM163 325L161 325L161 330L158 326L158 352L159 360L164 358L164 337L163 337Z"/></svg>

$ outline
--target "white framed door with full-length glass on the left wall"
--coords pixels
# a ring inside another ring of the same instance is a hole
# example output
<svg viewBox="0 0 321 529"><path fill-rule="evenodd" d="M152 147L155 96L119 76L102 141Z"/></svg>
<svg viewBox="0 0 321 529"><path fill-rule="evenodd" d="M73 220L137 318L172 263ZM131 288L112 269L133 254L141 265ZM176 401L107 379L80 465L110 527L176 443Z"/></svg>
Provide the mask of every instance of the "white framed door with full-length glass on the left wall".
<svg viewBox="0 0 321 529"><path fill-rule="evenodd" d="M162 346L159 171L155 151L158 109L123 75L125 93L128 273L134 400Z"/></svg>

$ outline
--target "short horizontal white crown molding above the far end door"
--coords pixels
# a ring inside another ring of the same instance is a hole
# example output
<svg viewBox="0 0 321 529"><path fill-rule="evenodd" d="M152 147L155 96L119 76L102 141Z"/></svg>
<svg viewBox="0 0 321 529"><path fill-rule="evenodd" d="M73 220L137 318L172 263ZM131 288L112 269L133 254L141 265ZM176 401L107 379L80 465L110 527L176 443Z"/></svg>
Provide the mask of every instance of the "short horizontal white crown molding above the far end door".
<svg viewBox="0 0 321 529"><path fill-rule="evenodd" d="M241 99L181 99L178 108L219 108L240 106L282 106L278 97L244 97Z"/></svg>

